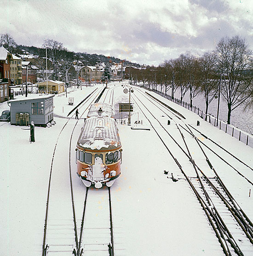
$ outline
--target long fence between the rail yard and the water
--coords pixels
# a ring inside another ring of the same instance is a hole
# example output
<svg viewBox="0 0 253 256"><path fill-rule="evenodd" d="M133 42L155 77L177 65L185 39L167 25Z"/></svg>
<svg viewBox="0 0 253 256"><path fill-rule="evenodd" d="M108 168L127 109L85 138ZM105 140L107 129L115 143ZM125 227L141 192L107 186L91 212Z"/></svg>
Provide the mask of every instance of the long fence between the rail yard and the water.
<svg viewBox="0 0 253 256"><path fill-rule="evenodd" d="M232 137L235 137L236 139L238 139L239 141L245 143L246 145L250 146L251 148L253 148L253 136L249 135L247 132L245 131L241 131L240 129L233 127L231 125L226 124L225 122L221 121L218 119L218 125L217 125L217 119L214 116L211 115L206 115L203 110L200 110L199 107L196 106L192 106L190 107L190 104L184 101L180 101L176 98L173 98L170 95L167 95L161 91L155 90L155 89L150 89L141 85L136 85L138 87L147 89L149 91L153 91L159 95L161 95L162 97L173 101L174 103L177 103L178 105L181 105L182 107L185 107L187 109L189 109L190 111L196 113L197 115L199 115L202 119L206 120L207 122L209 122L210 124L212 124L213 126L219 128L219 130L222 130L224 132L226 132L227 134L231 135Z"/></svg>

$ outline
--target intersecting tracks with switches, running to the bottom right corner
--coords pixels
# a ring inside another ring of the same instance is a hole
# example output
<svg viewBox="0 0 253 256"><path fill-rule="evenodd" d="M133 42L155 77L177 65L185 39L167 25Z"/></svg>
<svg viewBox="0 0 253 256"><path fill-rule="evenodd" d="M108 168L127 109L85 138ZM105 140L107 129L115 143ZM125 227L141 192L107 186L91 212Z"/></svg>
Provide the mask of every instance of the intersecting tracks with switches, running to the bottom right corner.
<svg viewBox="0 0 253 256"><path fill-rule="evenodd" d="M149 120L155 133L168 150L192 190L195 192L207 215L207 219L213 227L216 237L221 244L224 254L252 255L253 225L225 187L200 144L196 143L192 134L189 135L191 136L191 141L189 141L189 137L185 139L185 133L183 134L173 118L171 119L175 122L180 136L176 135L175 132L173 133L174 137L170 135L164 125L161 124L161 121L155 118L150 110L144 105L143 101L140 101L136 95L135 97L137 99L134 100L136 105ZM138 103L142 104L145 110L142 110ZM156 105L155 103L153 104ZM163 113L165 112L163 111ZM173 113L173 115L175 114ZM179 118L179 120L181 119ZM168 140L168 138L170 138L170 140ZM201 161L198 161L198 164L200 164L200 166L202 164L201 168L205 169L206 174L192 158L192 150L189 149L189 145L193 144L194 149L199 149L198 153L195 152L195 158L197 155L197 158L199 157L201 159ZM181 153L179 151L181 151ZM211 177L211 179L208 177ZM176 180L177 179L175 179L175 181ZM215 182L212 182L211 180L215 180Z"/></svg>

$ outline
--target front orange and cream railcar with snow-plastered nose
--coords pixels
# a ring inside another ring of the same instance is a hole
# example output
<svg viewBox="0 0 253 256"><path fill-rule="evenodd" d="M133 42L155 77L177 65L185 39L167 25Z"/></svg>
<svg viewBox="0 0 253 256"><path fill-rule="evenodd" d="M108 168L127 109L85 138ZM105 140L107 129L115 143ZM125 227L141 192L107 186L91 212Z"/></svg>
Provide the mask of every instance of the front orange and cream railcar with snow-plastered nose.
<svg viewBox="0 0 253 256"><path fill-rule="evenodd" d="M100 106L102 108L103 106ZM121 174L122 149L116 122L103 116L85 120L76 145L77 175L86 187L111 186Z"/></svg>

